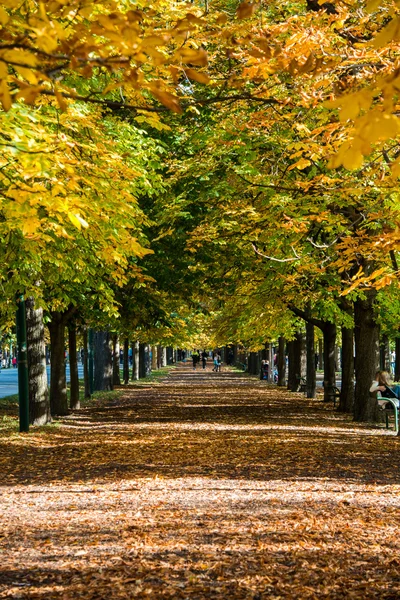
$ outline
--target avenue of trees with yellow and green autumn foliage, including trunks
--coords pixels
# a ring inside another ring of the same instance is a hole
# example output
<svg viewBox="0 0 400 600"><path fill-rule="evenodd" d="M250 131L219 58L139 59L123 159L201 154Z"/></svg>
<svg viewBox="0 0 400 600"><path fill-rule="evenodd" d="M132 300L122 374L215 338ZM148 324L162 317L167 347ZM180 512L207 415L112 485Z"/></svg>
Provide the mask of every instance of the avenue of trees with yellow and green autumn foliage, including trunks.
<svg viewBox="0 0 400 600"><path fill-rule="evenodd" d="M326 401L340 340L339 408L376 418L390 344L400 380L399 18L376 0L3 2L0 317L12 330L24 295L32 423L68 411L65 347L76 373L89 332L97 389L120 345L156 366L274 342L291 389L306 345L309 397L319 336Z"/></svg>

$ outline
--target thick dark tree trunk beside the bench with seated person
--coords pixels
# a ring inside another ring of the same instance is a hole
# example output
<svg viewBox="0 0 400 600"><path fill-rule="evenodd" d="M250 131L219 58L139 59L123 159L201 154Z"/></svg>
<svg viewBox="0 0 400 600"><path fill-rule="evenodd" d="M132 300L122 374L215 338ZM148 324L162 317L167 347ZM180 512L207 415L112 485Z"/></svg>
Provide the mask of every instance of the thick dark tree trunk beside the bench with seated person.
<svg viewBox="0 0 400 600"><path fill-rule="evenodd" d="M365 291L365 300L354 304L354 333L356 345L354 420L377 420L377 402L369 393L379 364L379 326L375 320L375 290Z"/></svg>

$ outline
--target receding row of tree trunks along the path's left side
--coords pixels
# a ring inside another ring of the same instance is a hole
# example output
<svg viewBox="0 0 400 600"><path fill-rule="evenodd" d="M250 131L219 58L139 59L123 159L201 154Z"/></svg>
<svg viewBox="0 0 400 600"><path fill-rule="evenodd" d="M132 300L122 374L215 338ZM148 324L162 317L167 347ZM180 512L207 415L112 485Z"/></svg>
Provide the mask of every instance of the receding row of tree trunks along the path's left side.
<svg viewBox="0 0 400 600"><path fill-rule="evenodd" d="M28 373L29 373L29 419L31 425L45 425L51 421L52 416L68 414L67 380L65 372L65 328L68 324L68 345L70 365L70 403L69 408L80 408L79 377L77 360L76 325L71 321L74 309L51 313L48 324L50 333L50 390L46 370L46 344L43 322L43 309L35 307L33 297L26 299L27 341L28 341ZM120 384L120 349L118 336L112 336L112 351L110 347L111 336L109 332L96 332L94 334L94 389L111 390L114 385ZM88 333L83 331L83 374L85 384L85 398L90 397L89 369L88 369ZM132 377L137 380L146 376L144 344L133 344ZM166 349L152 347L151 368L166 364ZM140 354L140 356L139 356ZM140 367L140 365L142 365ZM150 365L149 365L150 366ZM140 372L139 372L140 369ZM129 381L129 342L124 341L124 382Z"/></svg>

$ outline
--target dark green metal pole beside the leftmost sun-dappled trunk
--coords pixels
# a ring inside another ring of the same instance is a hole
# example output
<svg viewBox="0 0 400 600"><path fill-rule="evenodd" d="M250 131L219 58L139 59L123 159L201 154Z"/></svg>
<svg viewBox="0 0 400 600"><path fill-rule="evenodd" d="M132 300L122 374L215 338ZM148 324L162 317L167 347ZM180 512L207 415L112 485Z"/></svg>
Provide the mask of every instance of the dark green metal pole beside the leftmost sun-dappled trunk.
<svg viewBox="0 0 400 600"><path fill-rule="evenodd" d="M17 296L17 348L18 348L18 398L19 430L29 431L28 345L26 339L26 309L23 294Z"/></svg>

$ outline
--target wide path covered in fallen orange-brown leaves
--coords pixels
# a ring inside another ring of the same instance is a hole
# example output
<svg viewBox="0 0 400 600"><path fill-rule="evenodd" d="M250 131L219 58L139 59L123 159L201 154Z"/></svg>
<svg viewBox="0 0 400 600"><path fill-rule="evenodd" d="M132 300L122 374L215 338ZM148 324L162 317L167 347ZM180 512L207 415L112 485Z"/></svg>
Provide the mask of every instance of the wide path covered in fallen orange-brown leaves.
<svg viewBox="0 0 400 600"><path fill-rule="evenodd" d="M0 437L0 598L400 598L400 438L178 367Z"/></svg>

